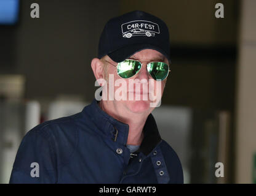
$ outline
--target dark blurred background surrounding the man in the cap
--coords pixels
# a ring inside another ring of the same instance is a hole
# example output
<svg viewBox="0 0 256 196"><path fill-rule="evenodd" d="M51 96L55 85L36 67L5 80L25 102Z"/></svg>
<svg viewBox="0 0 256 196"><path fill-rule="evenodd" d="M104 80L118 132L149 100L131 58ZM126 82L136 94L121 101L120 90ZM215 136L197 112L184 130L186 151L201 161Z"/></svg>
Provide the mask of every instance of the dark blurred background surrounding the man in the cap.
<svg viewBox="0 0 256 196"><path fill-rule="evenodd" d="M185 183L256 183L255 0L0 0L0 183L28 130L92 102L103 26L132 10L169 27L172 72L153 115Z"/></svg>

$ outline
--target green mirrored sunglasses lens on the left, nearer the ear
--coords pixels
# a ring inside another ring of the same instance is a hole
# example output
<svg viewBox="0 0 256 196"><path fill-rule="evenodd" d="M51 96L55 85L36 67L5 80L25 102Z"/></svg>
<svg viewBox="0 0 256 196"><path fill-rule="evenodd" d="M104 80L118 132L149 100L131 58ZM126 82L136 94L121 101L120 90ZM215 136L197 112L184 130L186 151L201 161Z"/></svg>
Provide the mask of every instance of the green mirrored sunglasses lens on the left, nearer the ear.
<svg viewBox="0 0 256 196"><path fill-rule="evenodd" d="M126 59L118 63L118 75L121 78L130 78L138 73L142 64L135 60Z"/></svg>

